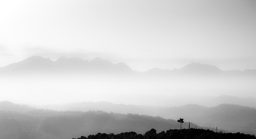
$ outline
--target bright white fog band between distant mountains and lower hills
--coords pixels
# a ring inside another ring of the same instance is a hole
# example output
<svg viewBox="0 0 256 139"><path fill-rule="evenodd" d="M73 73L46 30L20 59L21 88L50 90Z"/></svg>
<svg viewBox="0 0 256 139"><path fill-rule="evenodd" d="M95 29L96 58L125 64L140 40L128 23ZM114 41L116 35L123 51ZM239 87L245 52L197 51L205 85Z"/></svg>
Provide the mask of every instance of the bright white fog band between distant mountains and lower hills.
<svg viewBox="0 0 256 139"><path fill-rule="evenodd" d="M0 79L0 101L47 105L82 101L115 104L213 106L209 97L255 97L253 78L22 75Z"/></svg>

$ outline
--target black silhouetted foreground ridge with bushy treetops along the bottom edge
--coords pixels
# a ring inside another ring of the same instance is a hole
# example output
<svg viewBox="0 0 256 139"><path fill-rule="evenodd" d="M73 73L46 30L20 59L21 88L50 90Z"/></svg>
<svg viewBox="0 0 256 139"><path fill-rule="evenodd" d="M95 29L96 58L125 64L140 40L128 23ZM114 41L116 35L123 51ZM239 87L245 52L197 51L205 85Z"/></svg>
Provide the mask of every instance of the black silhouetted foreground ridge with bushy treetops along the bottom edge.
<svg viewBox="0 0 256 139"><path fill-rule="evenodd" d="M181 138L190 138L190 139L201 139L201 138L237 138L237 139L253 139L256 138L253 135L249 134L243 134L243 133L216 133L211 130L204 130L204 129L183 129L183 130L167 130L162 131L160 133L156 133L155 129L151 129L147 131L145 134L137 134L135 132L125 132L125 133L120 133L120 134L106 134L106 133L97 133L95 135L89 135L88 137L80 137L77 139L181 139ZM75 138L72 138L75 139Z"/></svg>

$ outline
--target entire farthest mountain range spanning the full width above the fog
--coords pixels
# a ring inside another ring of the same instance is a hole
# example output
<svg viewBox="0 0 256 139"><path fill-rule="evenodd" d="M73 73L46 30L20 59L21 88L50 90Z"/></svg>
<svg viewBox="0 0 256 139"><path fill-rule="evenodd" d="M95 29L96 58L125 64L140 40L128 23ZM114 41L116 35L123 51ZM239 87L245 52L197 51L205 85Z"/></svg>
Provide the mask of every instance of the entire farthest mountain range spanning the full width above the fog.
<svg viewBox="0 0 256 139"><path fill-rule="evenodd" d="M113 64L111 61L102 60L99 57L93 60L83 60L76 57L59 57L56 61L40 56L31 56L17 63L12 63L0 68L0 72L115 72L135 73L125 63ZM138 73L138 72L136 72ZM222 71L214 65L191 63L180 69L149 69L147 75L256 75L256 69L244 71Z"/></svg>

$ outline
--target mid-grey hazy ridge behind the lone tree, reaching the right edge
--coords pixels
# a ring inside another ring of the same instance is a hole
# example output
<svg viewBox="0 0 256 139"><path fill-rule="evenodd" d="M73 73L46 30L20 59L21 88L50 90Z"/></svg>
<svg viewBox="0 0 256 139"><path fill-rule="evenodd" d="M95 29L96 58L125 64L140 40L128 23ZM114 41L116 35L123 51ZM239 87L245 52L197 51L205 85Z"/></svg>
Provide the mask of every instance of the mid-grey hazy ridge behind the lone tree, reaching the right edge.
<svg viewBox="0 0 256 139"><path fill-rule="evenodd" d="M47 108L50 108L49 106ZM53 108L53 107L52 107ZM54 108L53 108L54 109ZM58 110L89 111L101 110L122 114L161 116L167 119L184 118L185 121L206 127L216 127L227 131L247 133L256 125L256 109L241 105L221 104L216 107L203 107L188 104L181 107L150 107L111 103L76 103L57 106ZM256 134L256 132L252 132Z"/></svg>

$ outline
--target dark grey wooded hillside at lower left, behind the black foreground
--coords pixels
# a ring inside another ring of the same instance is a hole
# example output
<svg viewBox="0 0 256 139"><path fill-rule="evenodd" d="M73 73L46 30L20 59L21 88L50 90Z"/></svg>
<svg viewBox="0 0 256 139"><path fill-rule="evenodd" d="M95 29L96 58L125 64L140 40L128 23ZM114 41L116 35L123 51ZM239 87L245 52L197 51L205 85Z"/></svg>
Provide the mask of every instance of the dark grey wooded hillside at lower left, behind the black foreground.
<svg viewBox="0 0 256 139"><path fill-rule="evenodd" d="M188 123L184 123L188 124ZM191 127L195 127L191 124ZM176 120L135 114L107 112L57 112L38 110L28 112L0 111L2 139L70 139L96 133L145 133L154 128L180 128Z"/></svg>

